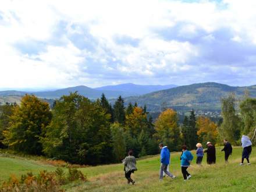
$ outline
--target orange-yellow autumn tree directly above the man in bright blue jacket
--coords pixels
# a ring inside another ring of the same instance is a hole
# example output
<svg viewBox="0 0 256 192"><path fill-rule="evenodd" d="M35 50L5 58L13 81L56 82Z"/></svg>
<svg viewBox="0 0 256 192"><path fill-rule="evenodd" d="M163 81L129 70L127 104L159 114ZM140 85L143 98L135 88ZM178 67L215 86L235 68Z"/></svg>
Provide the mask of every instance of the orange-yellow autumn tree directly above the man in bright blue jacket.
<svg viewBox="0 0 256 192"><path fill-rule="evenodd" d="M163 142L170 150L180 148L180 130L177 113L173 109L163 111L155 122L155 137L158 143Z"/></svg>

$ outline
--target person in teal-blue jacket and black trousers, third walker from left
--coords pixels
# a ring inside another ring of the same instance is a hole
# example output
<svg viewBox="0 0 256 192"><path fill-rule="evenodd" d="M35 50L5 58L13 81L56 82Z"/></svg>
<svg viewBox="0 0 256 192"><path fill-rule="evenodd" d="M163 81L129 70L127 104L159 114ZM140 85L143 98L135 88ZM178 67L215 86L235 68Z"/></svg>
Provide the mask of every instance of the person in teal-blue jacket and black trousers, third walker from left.
<svg viewBox="0 0 256 192"><path fill-rule="evenodd" d="M189 168L190 163L193 159L193 155L190 151L187 151L187 146L182 145L182 156L180 156L181 165L182 165L182 174L184 177L184 181L189 180L191 175L187 172L187 168Z"/></svg>

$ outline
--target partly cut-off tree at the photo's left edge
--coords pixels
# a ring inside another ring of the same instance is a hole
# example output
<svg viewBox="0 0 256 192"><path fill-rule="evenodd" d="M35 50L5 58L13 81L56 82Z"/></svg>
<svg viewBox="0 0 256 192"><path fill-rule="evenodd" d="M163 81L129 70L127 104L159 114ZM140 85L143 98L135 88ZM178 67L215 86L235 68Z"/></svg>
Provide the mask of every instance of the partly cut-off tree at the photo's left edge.
<svg viewBox="0 0 256 192"><path fill-rule="evenodd" d="M13 115L16 105L6 102L5 105L0 105L0 148L5 147L3 145L3 131L9 127L10 117Z"/></svg>

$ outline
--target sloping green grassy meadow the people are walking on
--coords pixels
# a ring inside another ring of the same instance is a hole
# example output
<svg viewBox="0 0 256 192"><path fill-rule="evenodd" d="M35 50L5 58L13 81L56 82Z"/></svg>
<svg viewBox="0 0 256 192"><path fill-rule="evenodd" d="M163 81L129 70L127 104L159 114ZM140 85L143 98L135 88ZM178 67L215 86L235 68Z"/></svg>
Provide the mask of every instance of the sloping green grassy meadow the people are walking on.
<svg viewBox="0 0 256 192"><path fill-rule="evenodd" d="M184 182L180 170L180 153L171 154L170 172L177 176L175 180L166 177L159 182L159 157L150 157L137 161L138 171L132 177L134 186L127 185L123 165L103 165L80 170L88 176L89 182L71 183L64 188L67 191L256 191L256 155L251 155L252 165L239 166L241 148L234 148L230 163L225 165L221 148L217 150L216 165L195 165L195 159L189 172L191 180ZM193 151L194 154L194 151ZM194 155L195 157L195 155ZM22 175L28 171L55 170L54 166L22 158L0 157L0 182L9 175Z"/></svg>

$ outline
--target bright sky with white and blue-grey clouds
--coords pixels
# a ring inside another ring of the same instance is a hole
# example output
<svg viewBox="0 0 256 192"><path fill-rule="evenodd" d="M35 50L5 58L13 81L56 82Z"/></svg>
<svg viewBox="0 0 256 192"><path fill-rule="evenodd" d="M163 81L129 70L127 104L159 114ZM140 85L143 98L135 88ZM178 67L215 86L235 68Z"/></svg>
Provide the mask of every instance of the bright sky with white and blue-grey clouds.
<svg viewBox="0 0 256 192"><path fill-rule="evenodd" d="M256 84L256 1L0 1L0 88Z"/></svg>

